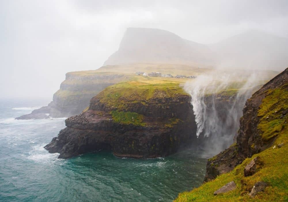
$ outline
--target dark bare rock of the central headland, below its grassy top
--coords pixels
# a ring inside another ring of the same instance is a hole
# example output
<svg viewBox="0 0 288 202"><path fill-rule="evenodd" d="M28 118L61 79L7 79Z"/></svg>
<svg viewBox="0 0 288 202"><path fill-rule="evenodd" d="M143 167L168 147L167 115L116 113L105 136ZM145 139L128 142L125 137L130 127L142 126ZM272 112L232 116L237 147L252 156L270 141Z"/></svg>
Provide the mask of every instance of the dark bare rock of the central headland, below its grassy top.
<svg viewBox="0 0 288 202"><path fill-rule="evenodd" d="M197 126L191 98L178 95L177 100L180 101L177 103L168 98L163 99L166 104L170 104L169 110L181 112L175 117L182 121L166 127L165 123L170 117L164 118L166 112L159 111L155 100L151 99L147 100L146 108L141 104L129 106L131 111L146 115L145 126L118 123L111 119L111 109L108 110L105 104L99 104L98 99L93 98L89 110L66 119L67 127L44 148L50 153L60 153L58 158L71 158L101 149L112 151L119 157L156 158L196 145ZM99 117L96 114L102 115Z"/></svg>

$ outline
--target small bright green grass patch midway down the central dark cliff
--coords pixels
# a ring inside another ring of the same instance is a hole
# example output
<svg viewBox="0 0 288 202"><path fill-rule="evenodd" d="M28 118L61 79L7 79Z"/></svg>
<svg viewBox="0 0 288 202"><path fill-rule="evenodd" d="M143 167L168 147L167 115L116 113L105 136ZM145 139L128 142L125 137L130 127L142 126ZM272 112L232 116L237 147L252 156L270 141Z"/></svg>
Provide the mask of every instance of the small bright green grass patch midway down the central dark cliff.
<svg viewBox="0 0 288 202"><path fill-rule="evenodd" d="M133 124L136 126L145 126L143 115L135 112L111 111L112 119L122 124Z"/></svg>

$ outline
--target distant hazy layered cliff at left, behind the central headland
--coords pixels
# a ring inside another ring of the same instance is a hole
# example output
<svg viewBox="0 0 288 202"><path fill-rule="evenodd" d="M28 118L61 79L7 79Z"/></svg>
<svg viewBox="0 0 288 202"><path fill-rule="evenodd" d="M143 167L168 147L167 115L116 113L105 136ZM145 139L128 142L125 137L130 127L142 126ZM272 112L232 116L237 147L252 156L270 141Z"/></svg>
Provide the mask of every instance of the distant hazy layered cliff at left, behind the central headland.
<svg viewBox="0 0 288 202"><path fill-rule="evenodd" d="M69 72L48 106L16 119L57 118L79 114L89 105L90 99L105 87L127 80L129 77L126 74L98 72L97 70Z"/></svg>

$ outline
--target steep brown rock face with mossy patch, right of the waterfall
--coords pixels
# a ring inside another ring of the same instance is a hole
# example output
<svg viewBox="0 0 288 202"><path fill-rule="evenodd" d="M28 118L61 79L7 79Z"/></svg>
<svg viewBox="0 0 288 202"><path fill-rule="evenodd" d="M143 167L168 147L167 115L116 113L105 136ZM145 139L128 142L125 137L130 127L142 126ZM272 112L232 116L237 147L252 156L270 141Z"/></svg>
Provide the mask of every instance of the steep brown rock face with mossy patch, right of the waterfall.
<svg viewBox="0 0 288 202"><path fill-rule="evenodd" d="M270 147L285 132L288 113L288 68L247 100L236 143L210 158L205 181L231 171L245 158Z"/></svg>

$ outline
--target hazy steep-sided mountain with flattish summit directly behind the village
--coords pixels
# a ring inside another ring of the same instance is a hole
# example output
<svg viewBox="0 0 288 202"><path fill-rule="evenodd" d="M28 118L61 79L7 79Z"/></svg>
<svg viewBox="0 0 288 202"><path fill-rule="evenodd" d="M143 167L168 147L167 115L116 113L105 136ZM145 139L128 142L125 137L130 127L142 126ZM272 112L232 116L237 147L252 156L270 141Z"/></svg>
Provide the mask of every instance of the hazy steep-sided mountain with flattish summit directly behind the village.
<svg viewBox="0 0 288 202"><path fill-rule="evenodd" d="M204 44L185 40L161 29L128 28L119 50L104 65L127 63L215 63L214 53Z"/></svg>

